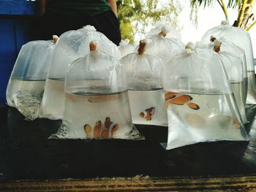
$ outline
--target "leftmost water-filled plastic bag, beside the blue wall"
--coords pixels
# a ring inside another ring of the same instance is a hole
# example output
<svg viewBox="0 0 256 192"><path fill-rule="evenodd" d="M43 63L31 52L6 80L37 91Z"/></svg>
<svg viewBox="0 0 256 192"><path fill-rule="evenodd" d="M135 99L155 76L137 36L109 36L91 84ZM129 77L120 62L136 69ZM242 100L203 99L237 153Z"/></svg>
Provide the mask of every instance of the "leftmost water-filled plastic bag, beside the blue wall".
<svg viewBox="0 0 256 192"><path fill-rule="evenodd" d="M17 108L27 120L38 118L48 66L55 42L37 40L27 42L20 49L7 85L7 104Z"/></svg>

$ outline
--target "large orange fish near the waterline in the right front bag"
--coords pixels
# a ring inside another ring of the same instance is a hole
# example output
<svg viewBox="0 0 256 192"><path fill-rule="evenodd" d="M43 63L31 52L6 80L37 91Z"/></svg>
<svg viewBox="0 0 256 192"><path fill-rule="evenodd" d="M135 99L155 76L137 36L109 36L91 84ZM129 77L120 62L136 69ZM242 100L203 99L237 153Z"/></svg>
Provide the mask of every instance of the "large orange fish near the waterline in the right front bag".
<svg viewBox="0 0 256 192"><path fill-rule="evenodd" d="M178 105L184 105L187 104L189 108L192 110L199 110L200 107L191 102L192 96L184 95L182 93L174 93L174 92L167 92L165 93L165 102L167 104L178 104Z"/></svg>

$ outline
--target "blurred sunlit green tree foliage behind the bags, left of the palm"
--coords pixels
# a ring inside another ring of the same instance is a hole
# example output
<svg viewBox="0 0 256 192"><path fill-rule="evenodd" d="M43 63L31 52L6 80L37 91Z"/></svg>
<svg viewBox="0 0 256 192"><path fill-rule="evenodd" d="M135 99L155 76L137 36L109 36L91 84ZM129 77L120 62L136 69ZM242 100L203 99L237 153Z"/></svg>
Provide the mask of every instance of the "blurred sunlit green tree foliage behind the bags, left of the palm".
<svg viewBox="0 0 256 192"><path fill-rule="evenodd" d="M135 34L142 37L146 28L154 26L157 21L170 23L170 26L178 27L178 13L181 12L181 4L178 1L169 0L118 0L118 20L120 22L122 39L135 41Z"/></svg>

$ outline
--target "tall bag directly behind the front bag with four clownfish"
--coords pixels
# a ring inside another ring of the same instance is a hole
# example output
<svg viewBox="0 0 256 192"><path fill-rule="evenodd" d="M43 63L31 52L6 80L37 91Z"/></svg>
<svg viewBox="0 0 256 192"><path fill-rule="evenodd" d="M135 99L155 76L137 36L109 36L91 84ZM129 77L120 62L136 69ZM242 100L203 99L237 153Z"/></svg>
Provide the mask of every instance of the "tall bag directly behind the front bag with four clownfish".
<svg viewBox="0 0 256 192"><path fill-rule="evenodd" d="M67 68L72 61L90 52L88 45L91 39L99 42L99 50L114 58L120 58L118 47L104 34L96 31L93 26L85 26L78 30L71 30L61 34L49 66L45 93L39 110L40 118L62 119L64 111L64 77Z"/></svg>

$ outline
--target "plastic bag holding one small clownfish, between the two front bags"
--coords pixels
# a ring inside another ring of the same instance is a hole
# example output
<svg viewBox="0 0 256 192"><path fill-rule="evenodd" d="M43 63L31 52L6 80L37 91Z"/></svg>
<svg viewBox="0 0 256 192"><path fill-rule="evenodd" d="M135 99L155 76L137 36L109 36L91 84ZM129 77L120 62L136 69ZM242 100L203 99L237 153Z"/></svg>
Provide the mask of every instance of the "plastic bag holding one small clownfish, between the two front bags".
<svg viewBox="0 0 256 192"><path fill-rule="evenodd" d="M121 58L127 72L129 105L132 122L154 126L167 126L161 72L165 63L161 58L146 53L147 41L140 41L138 53Z"/></svg>

